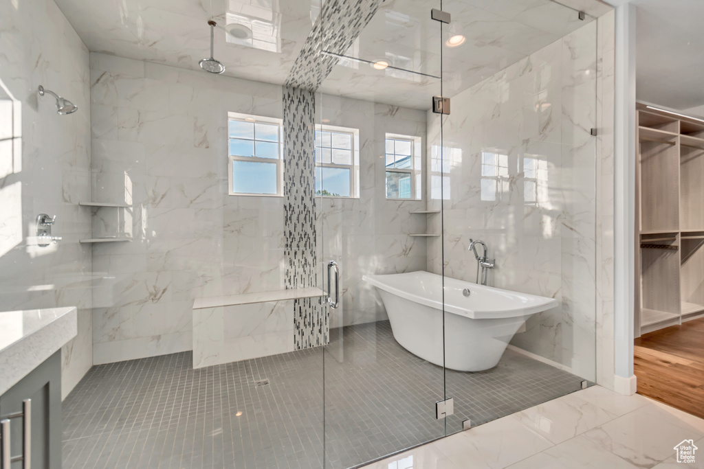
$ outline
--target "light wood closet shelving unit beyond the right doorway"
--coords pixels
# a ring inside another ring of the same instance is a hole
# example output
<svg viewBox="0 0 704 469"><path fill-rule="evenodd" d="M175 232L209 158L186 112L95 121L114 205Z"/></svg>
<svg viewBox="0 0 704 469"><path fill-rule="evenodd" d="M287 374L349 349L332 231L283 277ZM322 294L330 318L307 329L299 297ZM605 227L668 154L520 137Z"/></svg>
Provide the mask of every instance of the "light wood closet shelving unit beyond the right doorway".
<svg viewBox="0 0 704 469"><path fill-rule="evenodd" d="M637 107L636 333L704 316L704 122Z"/></svg>

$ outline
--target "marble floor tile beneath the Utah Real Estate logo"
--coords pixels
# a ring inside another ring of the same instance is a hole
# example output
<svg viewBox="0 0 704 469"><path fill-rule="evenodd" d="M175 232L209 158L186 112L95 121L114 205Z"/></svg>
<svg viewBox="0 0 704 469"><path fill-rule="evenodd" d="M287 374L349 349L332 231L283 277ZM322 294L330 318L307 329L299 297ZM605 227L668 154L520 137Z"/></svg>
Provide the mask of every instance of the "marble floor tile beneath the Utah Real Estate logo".
<svg viewBox="0 0 704 469"><path fill-rule="evenodd" d="M598 428L584 438L639 467L652 467L674 454L683 439L704 435L667 409L648 403Z"/></svg>

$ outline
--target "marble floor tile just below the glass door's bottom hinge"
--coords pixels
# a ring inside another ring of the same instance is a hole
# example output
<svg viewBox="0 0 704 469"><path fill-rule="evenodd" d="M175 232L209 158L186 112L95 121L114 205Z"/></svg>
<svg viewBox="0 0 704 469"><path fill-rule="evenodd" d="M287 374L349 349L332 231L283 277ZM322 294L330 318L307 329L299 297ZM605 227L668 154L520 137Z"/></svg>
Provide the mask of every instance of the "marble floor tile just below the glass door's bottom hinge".
<svg viewBox="0 0 704 469"><path fill-rule="evenodd" d="M435 442L460 468L505 468L553 446L547 439L504 417Z"/></svg>

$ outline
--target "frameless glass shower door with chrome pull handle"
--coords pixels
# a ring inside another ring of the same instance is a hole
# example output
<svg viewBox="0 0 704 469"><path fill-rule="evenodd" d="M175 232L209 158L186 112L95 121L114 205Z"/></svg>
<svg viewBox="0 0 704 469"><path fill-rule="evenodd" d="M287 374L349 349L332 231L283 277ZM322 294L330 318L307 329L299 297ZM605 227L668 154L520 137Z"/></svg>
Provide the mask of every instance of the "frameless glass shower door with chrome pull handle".
<svg viewBox="0 0 704 469"><path fill-rule="evenodd" d="M319 271L330 298L326 468L445 435L442 279L427 272L439 237L427 174L430 148L441 146L427 134L441 94L439 2L371 3L324 27L330 70L315 95Z"/></svg>

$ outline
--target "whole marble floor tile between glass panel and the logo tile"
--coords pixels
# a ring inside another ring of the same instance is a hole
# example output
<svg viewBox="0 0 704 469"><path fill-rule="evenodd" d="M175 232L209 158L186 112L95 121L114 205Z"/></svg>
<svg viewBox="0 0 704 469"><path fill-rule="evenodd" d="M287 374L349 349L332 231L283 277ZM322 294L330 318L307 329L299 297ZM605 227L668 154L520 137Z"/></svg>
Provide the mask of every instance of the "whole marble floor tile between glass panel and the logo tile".
<svg viewBox="0 0 704 469"><path fill-rule="evenodd" d="M558 444L617 416L579 397L568 394L515 413L513 418L551 442Z"/></svg>

